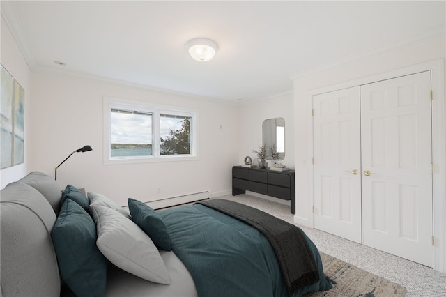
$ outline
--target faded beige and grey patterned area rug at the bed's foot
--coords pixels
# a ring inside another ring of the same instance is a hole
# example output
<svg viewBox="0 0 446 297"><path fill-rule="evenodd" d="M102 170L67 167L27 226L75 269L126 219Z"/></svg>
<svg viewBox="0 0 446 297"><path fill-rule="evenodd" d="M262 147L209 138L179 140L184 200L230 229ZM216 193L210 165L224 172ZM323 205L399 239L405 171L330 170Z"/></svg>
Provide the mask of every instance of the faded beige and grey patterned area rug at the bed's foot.
<svg viewBox="0 0 446 297"><path fill-rule="evenodd" d="M321 259L325 275L334 280L336 284L333 284L329 291L305 294L303 295L305 297L393 297L406 294L405 287L364 271L329 254L321 252Z"/></svg>

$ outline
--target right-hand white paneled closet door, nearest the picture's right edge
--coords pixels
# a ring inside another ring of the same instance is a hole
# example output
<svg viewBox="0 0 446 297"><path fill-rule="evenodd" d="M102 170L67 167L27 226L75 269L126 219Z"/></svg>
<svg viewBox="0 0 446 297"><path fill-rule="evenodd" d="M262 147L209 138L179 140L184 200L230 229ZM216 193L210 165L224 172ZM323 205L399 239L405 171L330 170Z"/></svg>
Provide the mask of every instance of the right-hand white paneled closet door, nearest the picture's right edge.
<svg viewBox="0 0 446 297"><path fill-rule="evenodd" d="M362 240L433 266L430 72L361 86Z"/></svg>

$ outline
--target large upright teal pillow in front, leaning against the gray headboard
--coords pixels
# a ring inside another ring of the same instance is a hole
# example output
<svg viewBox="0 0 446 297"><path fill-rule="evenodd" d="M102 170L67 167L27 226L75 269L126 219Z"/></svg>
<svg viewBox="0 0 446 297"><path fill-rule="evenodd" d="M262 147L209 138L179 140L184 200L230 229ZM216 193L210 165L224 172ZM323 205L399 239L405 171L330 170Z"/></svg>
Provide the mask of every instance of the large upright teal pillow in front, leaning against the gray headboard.
<svg viewBox="0 0 446 297"><path fill-rule="evenodd" d="M96 246L96 226L75 201L66 199L52 229L63 282L77 296L104 296L107 259Z"/></svg>

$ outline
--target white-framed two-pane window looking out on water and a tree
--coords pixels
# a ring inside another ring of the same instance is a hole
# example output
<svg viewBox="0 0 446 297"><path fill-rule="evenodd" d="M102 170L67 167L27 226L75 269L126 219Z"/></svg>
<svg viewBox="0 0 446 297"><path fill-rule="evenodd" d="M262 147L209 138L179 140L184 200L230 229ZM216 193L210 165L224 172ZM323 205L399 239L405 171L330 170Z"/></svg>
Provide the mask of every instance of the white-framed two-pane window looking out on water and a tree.
<svg viewBox="0 0 446 297"><path fill-rule="evenodd" d="M196 158L195 112L104 100L106 164Z"/></svg>

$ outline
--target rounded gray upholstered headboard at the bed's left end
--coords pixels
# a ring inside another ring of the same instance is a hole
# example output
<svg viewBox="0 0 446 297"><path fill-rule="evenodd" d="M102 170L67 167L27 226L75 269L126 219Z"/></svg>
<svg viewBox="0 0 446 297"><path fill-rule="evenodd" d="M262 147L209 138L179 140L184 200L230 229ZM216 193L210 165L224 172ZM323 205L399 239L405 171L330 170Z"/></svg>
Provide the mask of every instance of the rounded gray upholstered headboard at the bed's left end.
<svg viewBox="0 0 446 297"><path fill-rule="evenodd" d="M40 172L31 172L1 190L2 297L60 295L51 238L60 200L59 185Z"/></svg>

